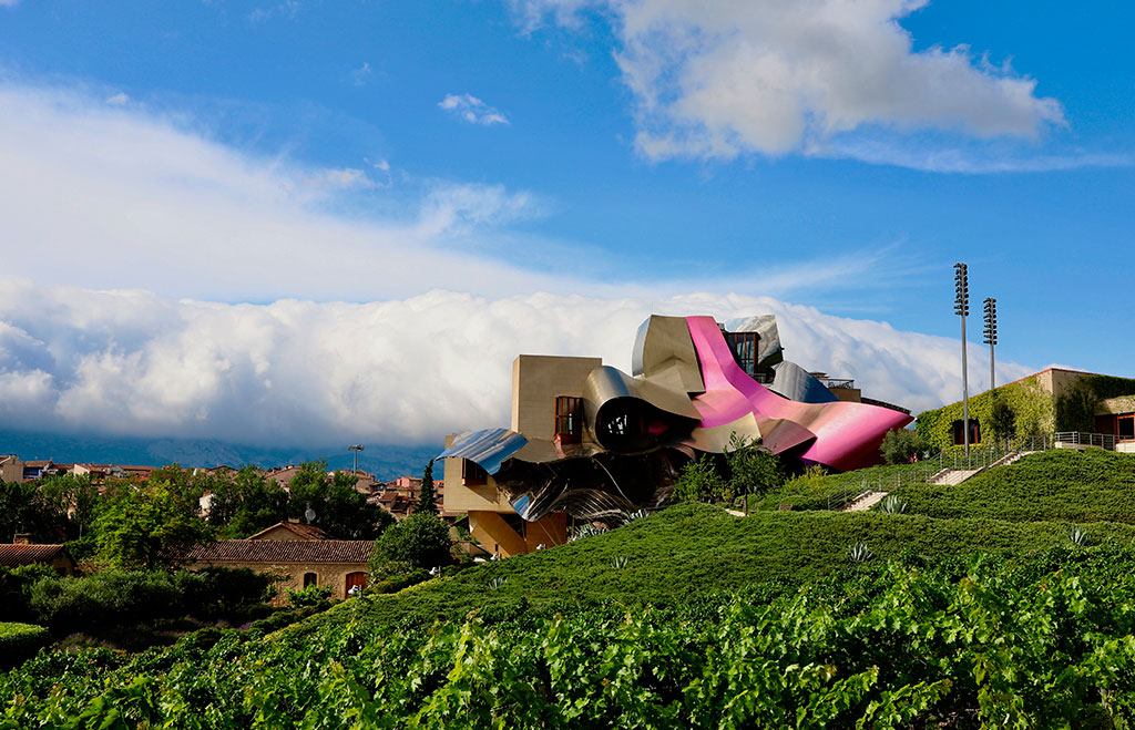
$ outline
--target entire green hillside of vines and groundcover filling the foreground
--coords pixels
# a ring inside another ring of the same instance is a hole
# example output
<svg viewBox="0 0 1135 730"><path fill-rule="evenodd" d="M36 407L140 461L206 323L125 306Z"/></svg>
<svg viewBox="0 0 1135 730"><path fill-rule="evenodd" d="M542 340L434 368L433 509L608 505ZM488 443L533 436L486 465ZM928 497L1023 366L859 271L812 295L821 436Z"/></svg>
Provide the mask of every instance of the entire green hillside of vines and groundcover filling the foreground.
<svg viewBox="0 0 1135 730"><path fill-rule="evenodd" d="M1126 462L1078 456L975 494L1121 506ZM680 504L280 630L42 651L0 728L1132 727L1135 526L992 513Z"/></svg>

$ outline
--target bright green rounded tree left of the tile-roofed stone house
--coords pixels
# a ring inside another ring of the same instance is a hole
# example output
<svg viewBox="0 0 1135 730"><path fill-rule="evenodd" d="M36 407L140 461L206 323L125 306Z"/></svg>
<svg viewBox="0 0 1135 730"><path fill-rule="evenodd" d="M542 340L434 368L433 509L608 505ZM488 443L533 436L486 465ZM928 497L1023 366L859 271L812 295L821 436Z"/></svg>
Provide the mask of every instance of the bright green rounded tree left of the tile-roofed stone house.
<svg viewBox="0 0 1135 730"><path fill-rule="evenodd" d="M94 523L98 557L116 568L176 563L188 549L211 537L197 502L169 482L120 485Z"/></svg>

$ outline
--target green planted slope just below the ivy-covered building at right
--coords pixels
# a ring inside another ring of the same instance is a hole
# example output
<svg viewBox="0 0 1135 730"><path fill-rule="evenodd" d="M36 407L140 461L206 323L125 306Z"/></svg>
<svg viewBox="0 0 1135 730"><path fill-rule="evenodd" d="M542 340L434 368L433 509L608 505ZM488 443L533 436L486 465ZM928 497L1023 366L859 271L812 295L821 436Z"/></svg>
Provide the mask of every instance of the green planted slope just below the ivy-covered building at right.
<svg viewBox="0 0 1135 730"><path fill-rule="evenodd" d="M1052 450L989 469L956 486L894 491L911 515L1012 523L1135 524L1135 457L1099 449Z"/></svg>

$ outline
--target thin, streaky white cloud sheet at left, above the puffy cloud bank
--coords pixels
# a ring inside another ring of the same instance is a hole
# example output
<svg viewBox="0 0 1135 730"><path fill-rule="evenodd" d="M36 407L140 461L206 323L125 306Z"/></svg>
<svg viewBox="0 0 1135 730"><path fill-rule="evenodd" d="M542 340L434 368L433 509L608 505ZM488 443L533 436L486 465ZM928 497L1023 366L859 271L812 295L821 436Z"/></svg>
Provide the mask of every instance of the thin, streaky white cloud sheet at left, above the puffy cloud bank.
<svg viewBox="0 0 1135 730"><path fill-rule="evenodd" d="M5 271L37 281L245 300L553 281L470 248L479 226L523 213L532 198L522 190L392 189L354 167L236 151L101 96L0 84L0 171Z"/></svg>

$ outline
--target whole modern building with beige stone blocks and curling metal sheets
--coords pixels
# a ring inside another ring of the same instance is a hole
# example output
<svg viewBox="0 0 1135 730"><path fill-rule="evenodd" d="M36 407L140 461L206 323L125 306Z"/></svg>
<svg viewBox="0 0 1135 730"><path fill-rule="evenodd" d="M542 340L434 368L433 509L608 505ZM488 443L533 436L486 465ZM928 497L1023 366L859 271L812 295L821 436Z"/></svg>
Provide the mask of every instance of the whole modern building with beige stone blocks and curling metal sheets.
<svg viewBox="0 0 1135 730"><path fill-rule="evenodd" d="M649 317L630 375L597 357L519 356L510 427L451 436L439 455L446 511L468 512L472 535L508 557L565 542L570 519L662 507L679 469L733 434L844 470L877 464L883 435L910 423L785 360L775 317L729 324Z"/></svg>

